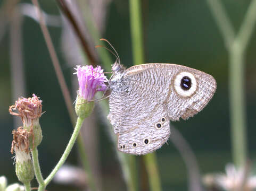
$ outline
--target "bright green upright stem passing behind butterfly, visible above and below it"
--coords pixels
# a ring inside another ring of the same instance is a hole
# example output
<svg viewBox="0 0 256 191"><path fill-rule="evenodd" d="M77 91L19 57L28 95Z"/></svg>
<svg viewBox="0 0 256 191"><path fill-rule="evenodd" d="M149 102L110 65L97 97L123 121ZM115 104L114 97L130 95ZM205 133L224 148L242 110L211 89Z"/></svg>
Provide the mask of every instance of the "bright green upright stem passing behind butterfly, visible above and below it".
<svg viewBox="0 0 256 191"><path fill-rule="evenodd" d="M144 63L144 48L142 36L142 17L141 1L130 0L130 28L131 41L133 48L133 61L135 65ZM153 191L161 190L161 181L159 176L158 164L155 152L143 156L145 167L148 173L150 189ZM130 162L136 167L135 157L130 155ZM134 177L135 181L137 177Z"/></svg>

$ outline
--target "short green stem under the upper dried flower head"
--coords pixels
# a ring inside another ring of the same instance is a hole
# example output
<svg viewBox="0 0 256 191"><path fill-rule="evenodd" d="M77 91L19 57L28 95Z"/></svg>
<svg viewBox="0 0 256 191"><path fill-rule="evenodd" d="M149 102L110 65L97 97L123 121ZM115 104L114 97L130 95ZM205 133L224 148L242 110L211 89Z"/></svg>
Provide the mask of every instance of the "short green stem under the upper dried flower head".
<svg viewBox="0 0 256 191"><path fill-rule="evenodd" d="M33 165L34 165L36 179L37 179L37 182L39 184L38 191L42 191L45 188L45 183L44 183L44 178L42 176L42 172L41 172L41 169L40 169L40 166L39 166L37 148L32 150L32 159L33 159Z"/></svg>

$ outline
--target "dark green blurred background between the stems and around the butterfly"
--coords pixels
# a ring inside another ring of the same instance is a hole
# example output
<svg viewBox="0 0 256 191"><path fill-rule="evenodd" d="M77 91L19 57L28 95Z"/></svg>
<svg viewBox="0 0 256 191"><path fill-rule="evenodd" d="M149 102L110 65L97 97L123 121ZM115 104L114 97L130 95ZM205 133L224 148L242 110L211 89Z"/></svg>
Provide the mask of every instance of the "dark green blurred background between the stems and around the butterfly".
<svg viewBox="0 0 256 191"><path fill-rule="evenodd" d="M222 0L230 20L237 30L251 1ZM4 1L0 1L3 5ZM31 3L21 1L20 3ZM55 1L39 1L42 9L49 14L59 15ZM111 1L105 16L105 32L101 38L108 39L118 51L122 64L133 65L131 54L130 23L128 1ZM202 174L224 171L225 164L232 161L230 152L230 123L228 98L228 53L224 41L213 20L207 3L200 1L153 1L143 0L143 35L146 63L175 63L196 68L211 74L217 81L217 91L203 111L189 118L172 123L188 141L199 163ZM62 27L48 27L62 71L70 91L73 66L68 64L61 39ZM4 30L1 28L0 30ZM24 17L22 25L22 53L24 61L25 94L35 93L43 100L40 119L43 128L43 142L38 147L39 160L44 177L59 160L72 133L72 125L64 104L63 95L54 73L51 58L39 24ZM74 44L77 42L73 42ZM100 44L100 41L99 41ZM72 49L72 46L67 47ZM5 175L9 183L18 181L15 176L12 154L13 119L8 112L13 105L10 71L10 31L0 42L0 176ZM114 62L115 58L112 57ZM74 61L75 62L75 61ZM255 114L256 114L256 34L253 32L246 51L245 94L246 123L249 158L255 159ZM101 63L98 63L99 65ZM143 64L143 63L142 63ZM110 72L110 71L108 71ZM73 98L75 101L75 98ZM104 125L105 115L94 112L97 126L97 152L100 161L103 190L125 190L125 183L115 146L110 141L109 129ZM175 136L172 134L171 136ZM187 190L187 170L180 154L169 142L156 151L163 190ZM141 160L137 159L138 166ZM78 164L76 147L71 152L68 163ZM36 186L36 185L35 185ZM52 183L47 190L76 190Z"/></svg>

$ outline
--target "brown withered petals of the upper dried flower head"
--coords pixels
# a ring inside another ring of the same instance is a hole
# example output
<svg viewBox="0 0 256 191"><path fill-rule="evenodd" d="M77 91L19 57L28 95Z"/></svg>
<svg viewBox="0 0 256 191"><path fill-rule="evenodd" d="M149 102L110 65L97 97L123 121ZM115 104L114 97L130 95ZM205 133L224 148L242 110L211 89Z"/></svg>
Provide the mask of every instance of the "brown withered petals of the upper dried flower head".
<svg viewBox="0 0 256 191"><path fill-rule="evenodd" d="M38 121L43 114L42 100L39 100L35 94L32 94L32 96L32 98L19 98L18 101L15 101L15 105L9 108L10 114L20 116L23 125L26 127L34 125L35 121ZM14 110L17 110L18 113Z"/></svg>

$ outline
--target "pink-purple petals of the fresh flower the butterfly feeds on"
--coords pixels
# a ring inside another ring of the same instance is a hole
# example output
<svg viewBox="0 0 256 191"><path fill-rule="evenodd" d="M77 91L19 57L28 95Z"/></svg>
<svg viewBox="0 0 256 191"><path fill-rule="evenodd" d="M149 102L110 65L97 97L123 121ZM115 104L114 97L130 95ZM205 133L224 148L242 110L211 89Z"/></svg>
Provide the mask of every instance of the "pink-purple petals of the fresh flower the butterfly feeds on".
<svg viewBox="0 0 256 191"><path fill-rule="evenodd" d="M96 68L93 68L91 65L77 66L75 70L77 71L74 74L77 74L78 77L78 93L80 97L90 101L93 99L95 93L106 90L106 84L104 82L108 82L108 80L103 74L101 66L97 66Z"/></svg>

